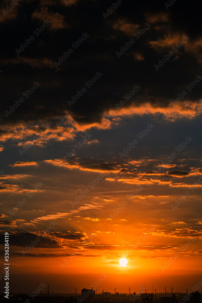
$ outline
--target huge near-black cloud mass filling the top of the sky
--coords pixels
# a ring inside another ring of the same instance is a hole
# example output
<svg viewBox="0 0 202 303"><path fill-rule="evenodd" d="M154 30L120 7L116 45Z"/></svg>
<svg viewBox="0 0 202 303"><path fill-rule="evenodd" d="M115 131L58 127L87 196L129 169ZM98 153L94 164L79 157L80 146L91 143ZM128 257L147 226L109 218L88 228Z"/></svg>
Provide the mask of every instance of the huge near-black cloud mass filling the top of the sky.
<svg viewBox="0 0 202 303"><path fill-rule="evenodd" d="M161 1L123 2L105 19L103 13L111 5L110 1L85 0L68 7L59 1L57 6L51 2L47 7L43 2L24 1L17 12L15 9L15 14L12 13L12 18L8 14L9 18L1 23L2 40L9 37L1 52L5 58L4 63L1 61L2 94L6 95L1 123L31 122L36 117L44 121L67 112L81 124L99 122L103 112L120 102L134 84L139 84L141 89L125 107L132 102L136 107L149 102L164 108L196 78L201 63L197 5L190 7L175 2L174 9L167 10ZM51 25L38 36L34 35L44 19L49 19ZM137 28L142 29L148 22L150 29L139 39L135 38L134 45L118 58L116 52L134 38ZM83 32L90 36L77 49L73 48L73 53L56 70L54 62L58 62L58 57L71 48ZM31 35L34 41L17 55L15 49ZM156 71L154 65L183 35L190 37L187 44ZM69 107L67 100L86 87L85 83L99 71L103 75ZM5 111L9 105L23 97L23 92L32 87L34 81L41 85L7 117ZM202 81L198 82L182 101L198 102L201 85Z"/></svg>

